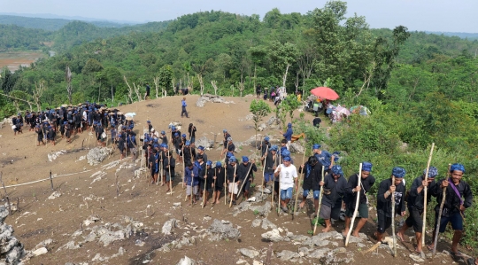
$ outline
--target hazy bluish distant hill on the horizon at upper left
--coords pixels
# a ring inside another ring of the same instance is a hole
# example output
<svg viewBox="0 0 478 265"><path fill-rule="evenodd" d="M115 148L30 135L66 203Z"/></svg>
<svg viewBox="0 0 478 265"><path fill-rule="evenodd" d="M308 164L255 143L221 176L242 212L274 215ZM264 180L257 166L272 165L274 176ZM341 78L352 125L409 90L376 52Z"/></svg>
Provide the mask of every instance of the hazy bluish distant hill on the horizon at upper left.
<svg viewBox="0 0 478 265"><path fill-rule="evenodd" d="M4 25L16 25L26 28L38 28L48 31L56 31L73 20L81 19L42 19L42 18L28 18L12 15L0 15L0 24ZM126 27L129 24L120 24L111 21L88 21L89 24L93 24L96 27Z"/></svg>

